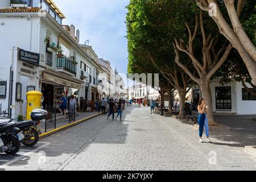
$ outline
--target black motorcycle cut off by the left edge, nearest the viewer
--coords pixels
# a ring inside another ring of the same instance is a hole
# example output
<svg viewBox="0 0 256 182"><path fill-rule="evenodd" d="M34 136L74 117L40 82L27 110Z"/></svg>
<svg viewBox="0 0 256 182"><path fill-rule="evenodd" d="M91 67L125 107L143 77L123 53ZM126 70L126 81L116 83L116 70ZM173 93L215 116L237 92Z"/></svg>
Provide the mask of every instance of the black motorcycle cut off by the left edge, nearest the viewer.
<svg viewBox="0 0 256 182"><path fill-rule="evenodd" d="M16 154L20 150L21 140L24 135L20 129L15 127L16 121L11 119L0 119L0 152Z"/></svg>

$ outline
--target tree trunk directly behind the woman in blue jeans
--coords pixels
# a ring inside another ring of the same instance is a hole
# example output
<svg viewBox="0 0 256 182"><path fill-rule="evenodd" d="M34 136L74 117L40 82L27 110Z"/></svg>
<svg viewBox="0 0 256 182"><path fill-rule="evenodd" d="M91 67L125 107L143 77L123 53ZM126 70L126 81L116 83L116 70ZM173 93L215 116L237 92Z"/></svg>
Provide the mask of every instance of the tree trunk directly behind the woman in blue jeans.
<svg viewBox="0 0 256 182"><path fill-rule="evenodd" d="M202 97L206 101L206 105L208 106L208 121L209 126L216 126L217 124L214 122L213 119L213 102L212 102L212 92L210 91L210 81L201 81L200 88L202 92Z"/></svg>

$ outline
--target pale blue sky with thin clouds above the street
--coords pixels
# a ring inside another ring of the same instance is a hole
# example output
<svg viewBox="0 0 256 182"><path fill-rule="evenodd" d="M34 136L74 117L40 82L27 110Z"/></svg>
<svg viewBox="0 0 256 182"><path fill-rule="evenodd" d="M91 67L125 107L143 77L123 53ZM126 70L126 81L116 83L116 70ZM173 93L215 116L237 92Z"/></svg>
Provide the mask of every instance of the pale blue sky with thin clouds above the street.
<svg viewBox="0 0 256 182"><path fill-rule="evenodd" d="M54 0L67 17L63 24L80 30L80 43L87 39L98 57L127 73L126 6L129 0Z"/></svg>

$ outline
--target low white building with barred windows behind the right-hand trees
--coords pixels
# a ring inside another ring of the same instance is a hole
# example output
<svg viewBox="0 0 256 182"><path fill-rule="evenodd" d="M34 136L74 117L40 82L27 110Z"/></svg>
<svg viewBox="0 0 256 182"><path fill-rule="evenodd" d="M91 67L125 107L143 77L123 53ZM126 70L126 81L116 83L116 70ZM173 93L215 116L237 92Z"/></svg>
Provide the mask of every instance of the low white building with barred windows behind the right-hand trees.
<svg viewBox="0 0 256 182"><path fill-rule="evenodd" d="M247 86L251 88L249 84ZM253 90L253 88L251 89ZM222 86L220 81L212 81L210 82L210 90L212 92L214 113L235 115L256 114L256 96L247 92L241 82L233 81ZM200 97L201 92L199 86L193 86L192 104L197 105Z"/></svg>

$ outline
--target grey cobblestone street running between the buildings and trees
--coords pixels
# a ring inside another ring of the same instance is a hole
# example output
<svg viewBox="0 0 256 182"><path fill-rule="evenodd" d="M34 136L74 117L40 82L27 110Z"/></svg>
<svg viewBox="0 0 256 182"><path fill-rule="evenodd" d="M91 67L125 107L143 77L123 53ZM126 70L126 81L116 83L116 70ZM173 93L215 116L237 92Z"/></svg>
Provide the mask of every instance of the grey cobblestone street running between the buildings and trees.
<svg viewBox="0 0 256 182"><path fill-rule="evenodd" d="M137 106L126 108L123 120L99 116L18 155L0 154L0 170L256 170L241 141L253 142L242 133L238 143L236 131L214 129L213 143L199 143L192 122Z"/></svg>

